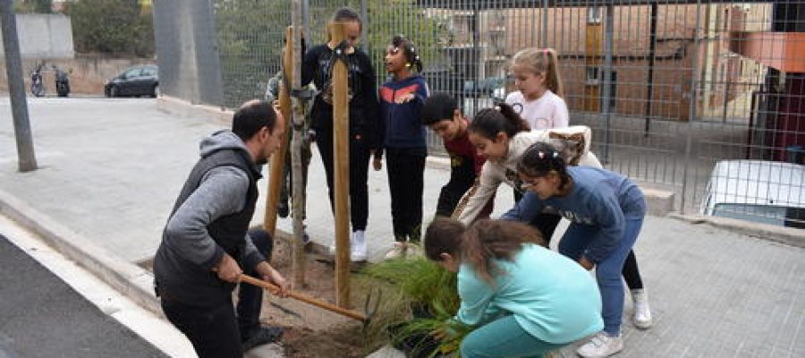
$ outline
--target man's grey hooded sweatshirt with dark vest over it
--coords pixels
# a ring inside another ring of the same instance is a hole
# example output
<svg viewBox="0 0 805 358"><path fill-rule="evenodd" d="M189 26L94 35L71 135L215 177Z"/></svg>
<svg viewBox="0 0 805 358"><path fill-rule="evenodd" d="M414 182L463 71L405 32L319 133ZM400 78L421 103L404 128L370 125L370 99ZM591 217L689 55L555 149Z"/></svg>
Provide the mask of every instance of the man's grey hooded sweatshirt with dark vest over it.
<svg viewBox="0 0 805 358"><path fill-rule="evenodd" d="M216 132L199 147L201 158L165 225L154 276L163 299L208 306L227 300L234 287L212 271L225 252L242 268L265 260L246 234L260 167L231 131Z"/></svg>

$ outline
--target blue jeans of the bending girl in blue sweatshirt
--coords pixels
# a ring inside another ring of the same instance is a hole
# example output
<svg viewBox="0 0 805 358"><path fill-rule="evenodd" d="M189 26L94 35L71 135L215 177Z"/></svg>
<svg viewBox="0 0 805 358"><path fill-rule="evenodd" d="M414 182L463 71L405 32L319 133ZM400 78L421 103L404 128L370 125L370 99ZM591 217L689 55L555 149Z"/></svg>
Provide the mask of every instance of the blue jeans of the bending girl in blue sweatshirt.
<svg viewBox="0 0 805 358"><path fill-rule="evenodd" d="M596 265L596 280L598 290L601 292L603 303L601 316L604 319L604 331L611 336L621 334L621 320L623 316L623 282L621 272L623 261L631 251L643 226L643 218L626 219L623 237L609 256ZM596 226L586 226L572 223L559 243L559 252L572 260L579 260L581 254L589 247L600 229Z"/></svg>

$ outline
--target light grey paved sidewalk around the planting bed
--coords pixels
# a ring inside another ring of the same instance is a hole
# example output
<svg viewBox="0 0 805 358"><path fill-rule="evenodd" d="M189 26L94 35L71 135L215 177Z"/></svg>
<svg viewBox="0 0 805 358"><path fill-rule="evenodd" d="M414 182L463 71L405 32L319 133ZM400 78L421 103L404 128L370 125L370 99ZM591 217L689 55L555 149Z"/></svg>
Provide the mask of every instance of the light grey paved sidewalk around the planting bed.
<svg viewBox="0 0 805 358"><path fill-rule="evenodd" d="M136 263L157 250L165 218L198 158L199 141L227 125L211 117L167 115L153 99L29 103L40 168L19 173L11 108L0 98L7 119L0 122L0 212L158 311L152 277ZM318 153L313 158L307 225L313 240L326 245L333 216ZM448 176L444 166L426 170L426 222ZM369 251L379 260L393 243L385 170L369 174L369 192ZM497 198L497 213L511 207L510 189ZM255 225L263 212L260 205ZM290 219L278 227L290 232ZM635 251L656 323L646 331L633 329L627 301L626 349L619 356L805 356L805 250L647 217ZM570 349L565 353L572 356Z"/></svg>

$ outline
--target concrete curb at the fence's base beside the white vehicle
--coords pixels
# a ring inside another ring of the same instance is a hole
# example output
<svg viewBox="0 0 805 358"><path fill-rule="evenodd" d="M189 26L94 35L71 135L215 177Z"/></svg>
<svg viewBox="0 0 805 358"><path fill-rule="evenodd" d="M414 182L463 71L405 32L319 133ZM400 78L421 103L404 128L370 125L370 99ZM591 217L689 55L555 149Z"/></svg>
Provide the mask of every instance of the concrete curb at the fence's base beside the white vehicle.
<svg viewBox="0 0 805 358"><path fill-rule="evenodd" d="M708 224L738 234L755 237L760 240L784 243L805 249L805 231L799 228L771 226L728 217L709 217L699 214L683 215L671 213L668 217L674 217L675 219L691 224Z"/></svg>

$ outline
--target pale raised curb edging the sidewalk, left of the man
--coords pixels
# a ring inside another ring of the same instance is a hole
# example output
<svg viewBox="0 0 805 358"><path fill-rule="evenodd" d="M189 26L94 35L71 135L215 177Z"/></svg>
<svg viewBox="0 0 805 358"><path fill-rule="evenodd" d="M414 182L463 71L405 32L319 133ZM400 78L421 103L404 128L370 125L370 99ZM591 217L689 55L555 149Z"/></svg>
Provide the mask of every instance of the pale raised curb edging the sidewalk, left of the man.
<svg viewBox="0 0 805 358"><path fill-rule="evenodd" d="M146 269L91 243L8 192L0 191L0 213L37 234L47 244L135 303L162 316L162 309L154 294L154 276Z"/></svg>

